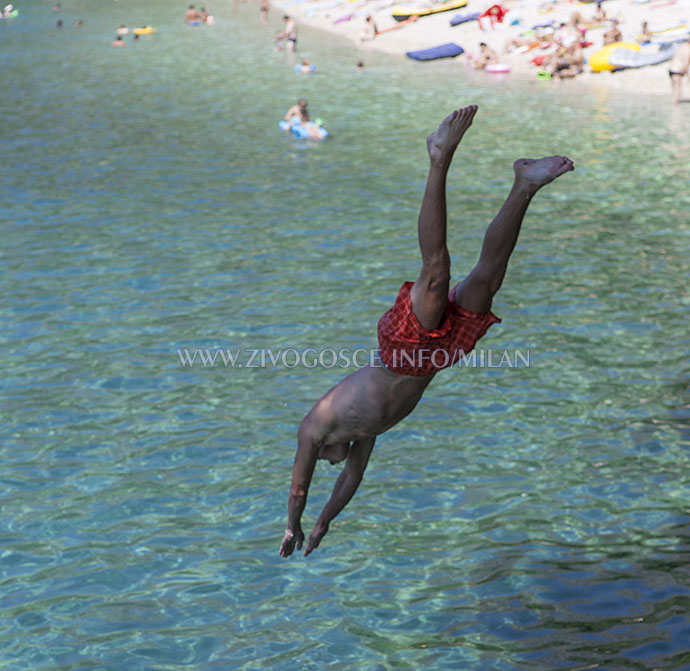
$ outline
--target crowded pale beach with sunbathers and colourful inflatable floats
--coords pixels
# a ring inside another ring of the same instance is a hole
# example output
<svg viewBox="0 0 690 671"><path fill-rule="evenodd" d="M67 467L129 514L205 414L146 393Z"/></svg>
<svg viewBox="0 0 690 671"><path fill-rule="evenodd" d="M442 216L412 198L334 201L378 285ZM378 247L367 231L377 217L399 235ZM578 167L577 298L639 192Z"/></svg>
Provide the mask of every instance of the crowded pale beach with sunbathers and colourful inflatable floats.
<svg viewBox="0 0 690 671"><path fill-rule="evenodd" d="M690 0L276 0L298 23L337 32L357 49L420 60L455 57L492 75L598 83L678 102L690 64ZM686 20L687 19L687 20ZM671 73L671 74L669 74Z"/></svg>

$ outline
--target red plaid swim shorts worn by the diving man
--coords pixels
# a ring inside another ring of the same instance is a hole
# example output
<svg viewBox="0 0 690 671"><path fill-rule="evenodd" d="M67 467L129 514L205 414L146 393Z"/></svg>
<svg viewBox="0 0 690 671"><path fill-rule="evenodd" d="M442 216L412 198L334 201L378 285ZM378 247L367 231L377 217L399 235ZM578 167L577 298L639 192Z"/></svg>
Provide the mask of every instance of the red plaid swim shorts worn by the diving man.
<svg viewBox="0 0 690 671"><path fill-rule="evenodd" d="M381 360L394 373L424 377L448 368L474 349L489 326L501 321L490 311L465 310L449 296L441 326L427 331L412 311L413 284L400 287L393 307L379 320Z"/></svg>

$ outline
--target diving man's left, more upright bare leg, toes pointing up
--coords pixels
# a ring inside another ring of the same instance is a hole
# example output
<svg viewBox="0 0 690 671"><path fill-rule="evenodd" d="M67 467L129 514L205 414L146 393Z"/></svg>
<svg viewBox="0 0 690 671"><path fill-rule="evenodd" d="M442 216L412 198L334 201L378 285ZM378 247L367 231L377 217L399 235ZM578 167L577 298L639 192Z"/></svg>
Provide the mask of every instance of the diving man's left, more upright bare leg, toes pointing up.
<svg viewBox="0 0 690 671"><path fill-rule="evenodd" d="M438 327L448 298L450 255L446 247L446 175L455 148L472 125L476 105L455 110L427 138L429 176L417 223L422 271L410 292L412 310L427 330Z"/></svg>

